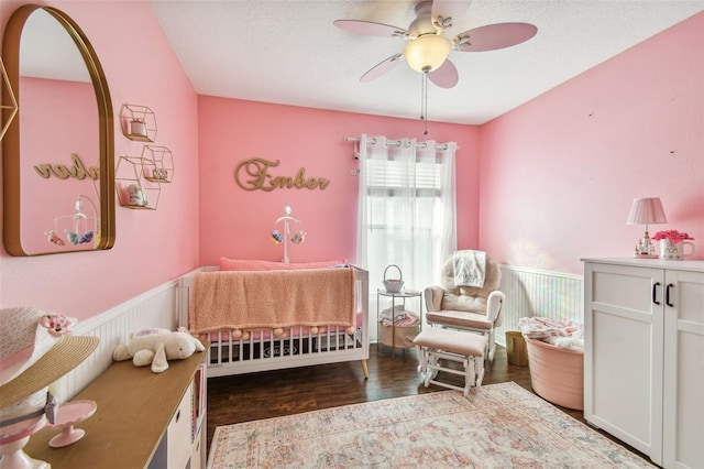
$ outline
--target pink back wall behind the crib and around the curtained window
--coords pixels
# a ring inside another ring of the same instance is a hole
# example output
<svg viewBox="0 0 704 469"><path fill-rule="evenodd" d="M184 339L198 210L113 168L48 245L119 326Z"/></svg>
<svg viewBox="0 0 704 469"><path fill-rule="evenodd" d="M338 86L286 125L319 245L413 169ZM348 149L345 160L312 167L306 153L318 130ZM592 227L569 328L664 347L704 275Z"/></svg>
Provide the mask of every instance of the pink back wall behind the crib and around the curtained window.
<svg viewBox="0 0 704 469"><path fill-rule="evenodd" d="M410 137L419 141L455 141L458 238L476 247L479 230L479 129L469 126L353 114L320 109L199 97L200 138L200 263L216 264L222 255L278 261L283 244L271 242L275 220L290 204L293 216L307 232L304 244L289 246L292 262L355 259L358 177L351 171L353 144L344 137ZM234 168L252 157L280 160L273 176L294 177L305 167L308 177L324 177L324 190L242 189ZM280 230L280 227L278 227Z"/></svg>

